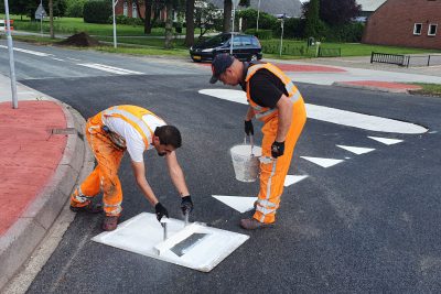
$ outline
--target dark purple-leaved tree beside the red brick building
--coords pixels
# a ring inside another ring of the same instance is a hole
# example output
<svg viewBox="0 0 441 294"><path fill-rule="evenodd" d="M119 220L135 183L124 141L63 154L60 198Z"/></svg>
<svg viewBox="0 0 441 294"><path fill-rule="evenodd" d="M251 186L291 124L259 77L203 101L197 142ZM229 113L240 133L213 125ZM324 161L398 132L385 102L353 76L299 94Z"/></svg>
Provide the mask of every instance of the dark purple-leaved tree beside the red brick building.
<svg viewBox="0 0 441 294"><path fill-rule="evenodd" d="M320 19L330 25L347 24L361 10L355 0L320 0Z"/></svg>

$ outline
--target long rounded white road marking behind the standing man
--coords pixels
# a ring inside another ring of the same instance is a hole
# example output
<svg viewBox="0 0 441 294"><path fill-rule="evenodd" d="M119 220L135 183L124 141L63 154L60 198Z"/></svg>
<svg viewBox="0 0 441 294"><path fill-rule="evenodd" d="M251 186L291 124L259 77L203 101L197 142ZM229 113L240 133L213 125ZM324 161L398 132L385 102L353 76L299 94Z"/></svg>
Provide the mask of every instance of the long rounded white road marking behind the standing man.
<svg viewBox="0 0 441 294"><path fill-rule="evenodd" d="M247 105L245 91L230 89L202 89L200 94L216 97L219 99ZM305 104L306 115L311 119L332 122L336 124L392 133L424 133L427 129L410 122L367 116L353 111L341 110L331 107Z"/></svg>

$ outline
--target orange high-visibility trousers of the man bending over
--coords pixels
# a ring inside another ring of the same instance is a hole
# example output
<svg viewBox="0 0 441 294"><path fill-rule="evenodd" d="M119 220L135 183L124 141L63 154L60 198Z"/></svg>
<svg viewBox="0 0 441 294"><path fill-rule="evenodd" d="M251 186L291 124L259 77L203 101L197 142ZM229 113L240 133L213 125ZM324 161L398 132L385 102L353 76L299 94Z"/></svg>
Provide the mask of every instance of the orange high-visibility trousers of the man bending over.
<svg viewBox="0 0 441 294"><path fill-rule="evenodd" d="M118 170L125 150L115 145L101 130L101 113L90 118L86 124L86 137L98 164L71 197L71 206L82 207L103 192L104 210L107 216L119 216L122 208L122 189Z"/></svg>

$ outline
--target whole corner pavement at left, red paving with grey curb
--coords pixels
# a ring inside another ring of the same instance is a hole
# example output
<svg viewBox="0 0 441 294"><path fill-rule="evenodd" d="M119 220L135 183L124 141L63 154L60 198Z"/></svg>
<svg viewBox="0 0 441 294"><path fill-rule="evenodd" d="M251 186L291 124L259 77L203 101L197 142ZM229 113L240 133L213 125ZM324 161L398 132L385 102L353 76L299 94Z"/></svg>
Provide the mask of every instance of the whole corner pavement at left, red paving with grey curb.
<svg viewBox="0 0 441 294"><path fill-rule="evenodd" d="M0 75L0 292L65 206L85 162L74 110Z"/></svg>

